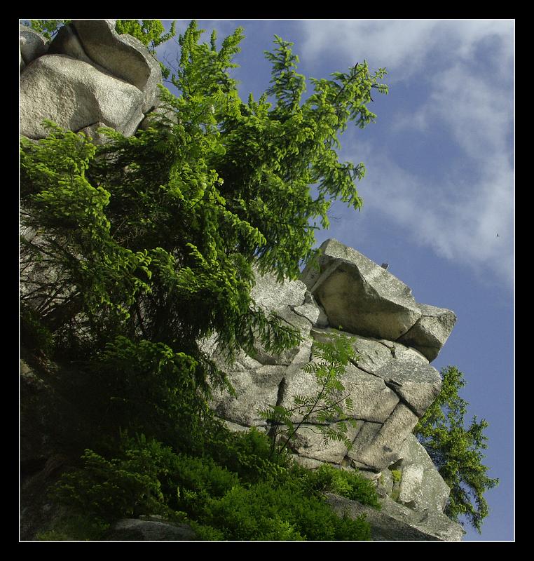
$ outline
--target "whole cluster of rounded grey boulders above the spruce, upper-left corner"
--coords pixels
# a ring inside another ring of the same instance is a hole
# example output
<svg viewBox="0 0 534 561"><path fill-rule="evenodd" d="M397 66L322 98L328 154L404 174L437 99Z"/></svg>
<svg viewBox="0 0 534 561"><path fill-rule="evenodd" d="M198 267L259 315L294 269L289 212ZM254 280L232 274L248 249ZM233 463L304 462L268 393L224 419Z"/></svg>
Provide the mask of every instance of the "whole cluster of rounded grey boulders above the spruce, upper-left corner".
<svg viewBox="0 0 534 561"><path fill-rule="evenodd" d="M20 133L46 137L44 119L97 144L98 126L130 136L158 104L158 61L115 20L74 20L51 43L20 26Z"/></svg>

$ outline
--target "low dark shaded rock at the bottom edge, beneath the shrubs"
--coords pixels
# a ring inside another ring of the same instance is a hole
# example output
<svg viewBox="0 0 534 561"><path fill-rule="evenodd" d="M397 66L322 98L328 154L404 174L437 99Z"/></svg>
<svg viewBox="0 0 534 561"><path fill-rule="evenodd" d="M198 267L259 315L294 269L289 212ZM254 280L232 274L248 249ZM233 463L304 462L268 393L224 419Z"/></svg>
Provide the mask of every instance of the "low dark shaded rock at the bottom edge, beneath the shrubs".
<svg viewBox="0 0 534 561"><path fill-rule="evenodd" d="M189 525L137 518L118 520L106 537L106 541L196 541L197 539Z"/></svg>

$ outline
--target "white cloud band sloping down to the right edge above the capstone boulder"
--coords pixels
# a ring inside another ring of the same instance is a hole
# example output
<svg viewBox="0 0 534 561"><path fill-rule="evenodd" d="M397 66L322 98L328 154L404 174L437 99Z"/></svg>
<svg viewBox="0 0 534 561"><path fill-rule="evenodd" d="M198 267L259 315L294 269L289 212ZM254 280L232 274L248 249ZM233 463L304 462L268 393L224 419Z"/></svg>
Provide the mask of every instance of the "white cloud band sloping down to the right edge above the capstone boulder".
<svg viewBox="0 0 534 561"><path fill-rule="evenodd" d="M428 184L379 151L366 151L364 212L385 215L437 255L512 285L513 172L505 157L477 182Z"/></svg>

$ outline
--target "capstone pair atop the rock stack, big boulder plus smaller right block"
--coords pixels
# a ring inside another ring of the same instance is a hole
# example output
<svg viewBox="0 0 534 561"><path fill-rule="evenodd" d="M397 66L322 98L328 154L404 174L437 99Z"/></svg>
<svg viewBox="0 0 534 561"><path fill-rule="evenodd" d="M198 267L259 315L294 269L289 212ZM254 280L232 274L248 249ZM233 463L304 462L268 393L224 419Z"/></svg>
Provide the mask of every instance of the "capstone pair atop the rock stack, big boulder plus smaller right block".
<svg viewBox="0 0 534 561"><path fill-rule="evenodd" d="M430 361L437 357L456 323L453 311L418 304L398 278L334 239L321 251L318 266L306 266L301 280L324 309L328 325L397 341Z"/></svg>

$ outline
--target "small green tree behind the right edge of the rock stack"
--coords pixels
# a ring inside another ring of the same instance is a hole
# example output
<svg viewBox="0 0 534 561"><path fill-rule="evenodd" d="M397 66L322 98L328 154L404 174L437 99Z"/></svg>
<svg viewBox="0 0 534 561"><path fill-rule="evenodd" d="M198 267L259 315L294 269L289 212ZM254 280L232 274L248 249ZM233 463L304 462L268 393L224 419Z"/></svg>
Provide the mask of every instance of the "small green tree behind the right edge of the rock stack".
<svg viewBox="0 0 534 561"><path fill-rule="evenodd" d="M437 466L451 495L445 513L463 525L465 515L470 525L480 533L481 525L488 515L488 503L484 493L498 485L497 478L486 475L488 467L482 464L487 448L484 428L488 423L473 417L465 426L467 405L458 396L458 390L465 386L463 373L449 366L441 371L443 385L434 403L419 420L414 433Z"/></svg>

